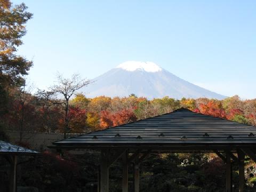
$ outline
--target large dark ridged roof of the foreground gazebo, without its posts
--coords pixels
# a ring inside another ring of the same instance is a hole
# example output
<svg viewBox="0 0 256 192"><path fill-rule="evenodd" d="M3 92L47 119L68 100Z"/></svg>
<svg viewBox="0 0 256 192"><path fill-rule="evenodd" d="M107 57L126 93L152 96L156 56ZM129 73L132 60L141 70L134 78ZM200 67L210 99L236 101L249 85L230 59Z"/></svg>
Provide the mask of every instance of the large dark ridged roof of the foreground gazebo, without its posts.
<svg viewBox="0 0 256 192"><path fill-rule="evenodd" d="M210 149L256 146L256 127L178 109L137 122L53 142L56 148L151 147ZM201 148L200 148L201 147Z"/></svg>

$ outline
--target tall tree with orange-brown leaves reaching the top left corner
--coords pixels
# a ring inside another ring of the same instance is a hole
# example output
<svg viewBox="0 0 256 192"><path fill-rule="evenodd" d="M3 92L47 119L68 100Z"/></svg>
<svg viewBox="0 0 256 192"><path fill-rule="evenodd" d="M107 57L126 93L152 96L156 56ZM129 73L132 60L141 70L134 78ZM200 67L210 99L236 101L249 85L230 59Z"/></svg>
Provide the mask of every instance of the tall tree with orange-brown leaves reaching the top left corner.
<svg viewBox="0 0 256 192"><path fill-rule="evenodd" d="M0 112L6 113L9 86L22 85L23 75L28 74L32 61L17 55L26 34L26 23L32 18L22 3L12 6L9 0L0 0Z"/></svg>

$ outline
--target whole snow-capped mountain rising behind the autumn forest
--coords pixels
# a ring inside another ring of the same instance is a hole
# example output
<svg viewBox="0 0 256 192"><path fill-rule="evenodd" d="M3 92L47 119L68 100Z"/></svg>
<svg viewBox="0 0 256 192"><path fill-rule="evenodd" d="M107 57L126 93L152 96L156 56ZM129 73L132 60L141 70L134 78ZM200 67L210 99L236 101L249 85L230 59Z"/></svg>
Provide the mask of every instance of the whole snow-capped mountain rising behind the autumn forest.
<svg viewBox="0 0 256 192"><path fill-rule="evenodd" d="M108 97L128 97L134 93L148 99L170 98L214 98L225 96L189 83L154 62L126 61L105 74L92 79L92 84L82 91L86 97L100 95Z"/></svg>

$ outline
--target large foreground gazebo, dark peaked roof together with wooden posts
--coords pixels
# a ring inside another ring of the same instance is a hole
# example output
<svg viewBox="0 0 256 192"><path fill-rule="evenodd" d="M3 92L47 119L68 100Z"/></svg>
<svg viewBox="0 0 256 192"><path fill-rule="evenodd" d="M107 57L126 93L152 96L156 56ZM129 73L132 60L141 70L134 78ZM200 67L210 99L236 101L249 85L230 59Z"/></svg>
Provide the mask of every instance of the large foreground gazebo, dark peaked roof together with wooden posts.
<svg viewBox="0 0 256 192"><path fill-rule="evenodd" d="M93 149L101 153L98 191L109 191L109 166L122 159L122 191L128 191L128 165L134 162L134 191L139 191L139 163L149 153L215 153L226 163L226 191L232 191L231 163L239 165L244 188L244 159L256 162L256 127L188 109L53 142L56 149Z"/></svg>

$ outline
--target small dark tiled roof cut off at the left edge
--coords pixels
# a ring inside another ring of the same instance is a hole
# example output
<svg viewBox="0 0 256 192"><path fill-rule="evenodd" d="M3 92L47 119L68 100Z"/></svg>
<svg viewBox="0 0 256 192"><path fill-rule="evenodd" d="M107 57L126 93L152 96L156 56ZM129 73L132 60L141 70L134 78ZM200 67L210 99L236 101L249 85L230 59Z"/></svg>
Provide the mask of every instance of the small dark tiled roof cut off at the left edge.
<svg viewBox="0 0 256 192"><path fill-rule="evenodd" d="M0 154L37 154L37 151L30 150L21 146L12 145L9 142L0 141Z"/></svg>

